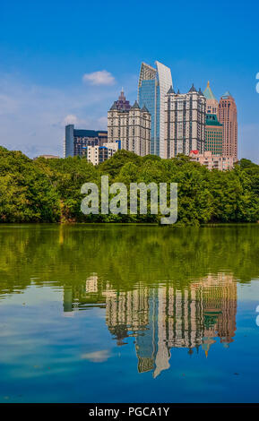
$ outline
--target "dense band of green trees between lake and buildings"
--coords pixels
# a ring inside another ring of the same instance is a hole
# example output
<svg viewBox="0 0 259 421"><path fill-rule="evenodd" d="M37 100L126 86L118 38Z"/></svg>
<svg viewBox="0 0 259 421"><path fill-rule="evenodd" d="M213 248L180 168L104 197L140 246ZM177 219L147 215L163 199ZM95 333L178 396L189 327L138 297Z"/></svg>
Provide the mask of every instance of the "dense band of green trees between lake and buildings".
<svg viewBox="0 0 259 421"><path fill-rule="evenodd" d="M241 159L228 171L209 171L186 156L139 157L126 150L94 167L85 158L29 159L0 147L0 221L160 223L160 215L84 215L84 183L178 184L178 226L259 220L259 166Z"/></svg>

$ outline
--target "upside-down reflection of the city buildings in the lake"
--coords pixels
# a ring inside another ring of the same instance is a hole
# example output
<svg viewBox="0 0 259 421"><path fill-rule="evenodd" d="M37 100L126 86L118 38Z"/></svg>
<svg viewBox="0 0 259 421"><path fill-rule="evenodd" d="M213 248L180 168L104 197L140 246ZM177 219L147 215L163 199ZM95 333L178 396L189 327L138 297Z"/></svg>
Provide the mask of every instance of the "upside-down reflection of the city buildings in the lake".
<svg viewBox="0 0 259 421"><path fill-rule="evenodd" d="M157 377L169 368L171 348L186 348L189 354L201 348L208 357L217 338L229 347L236 331L237 282L220 272L185 288L168 281L120 291L92 274L83 288L64 291L65 313L89 305L106 308L108 331L118 346L135 337L138 372L152 371Z"/></svg>

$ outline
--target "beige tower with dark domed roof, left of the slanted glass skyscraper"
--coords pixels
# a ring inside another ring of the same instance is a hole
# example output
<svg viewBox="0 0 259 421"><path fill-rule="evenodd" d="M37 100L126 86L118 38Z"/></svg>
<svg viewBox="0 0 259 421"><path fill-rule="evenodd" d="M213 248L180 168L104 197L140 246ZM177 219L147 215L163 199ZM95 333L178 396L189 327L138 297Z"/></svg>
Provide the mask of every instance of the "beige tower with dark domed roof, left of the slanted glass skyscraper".
<svg viewBox="0 0 259 421"><path fill-rule="evenodd" d="M117 141L121 141L121 149L142 157L151 150L151 114L137 101L130 107L123 92L108 110L108 142Z"/></svg>

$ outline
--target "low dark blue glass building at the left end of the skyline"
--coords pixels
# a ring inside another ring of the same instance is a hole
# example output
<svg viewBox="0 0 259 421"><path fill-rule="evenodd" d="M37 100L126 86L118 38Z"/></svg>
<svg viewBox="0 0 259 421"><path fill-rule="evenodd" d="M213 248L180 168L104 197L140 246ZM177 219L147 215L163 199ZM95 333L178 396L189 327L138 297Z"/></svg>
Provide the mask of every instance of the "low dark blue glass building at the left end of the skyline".
<svg viewBox="0 0 259 421"><path fill-rule="evenodd" d="M105 130L78 130L74 125L65 126L64 157L84 155L87 146L102 146L108 141L108 132Z"/></svg>

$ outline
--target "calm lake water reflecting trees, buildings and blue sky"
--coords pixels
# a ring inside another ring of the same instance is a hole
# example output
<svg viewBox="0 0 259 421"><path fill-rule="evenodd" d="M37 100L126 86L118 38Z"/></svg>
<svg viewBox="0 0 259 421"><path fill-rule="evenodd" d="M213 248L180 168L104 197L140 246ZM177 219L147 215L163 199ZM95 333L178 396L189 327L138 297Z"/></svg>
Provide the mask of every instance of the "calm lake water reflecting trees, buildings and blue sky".
<svg viewBox="0 0 259 421"><path fill-rule="evenodd" d="M259 401L259 224L2 225L0 250L1 402Z"/></svg>

